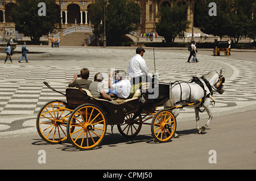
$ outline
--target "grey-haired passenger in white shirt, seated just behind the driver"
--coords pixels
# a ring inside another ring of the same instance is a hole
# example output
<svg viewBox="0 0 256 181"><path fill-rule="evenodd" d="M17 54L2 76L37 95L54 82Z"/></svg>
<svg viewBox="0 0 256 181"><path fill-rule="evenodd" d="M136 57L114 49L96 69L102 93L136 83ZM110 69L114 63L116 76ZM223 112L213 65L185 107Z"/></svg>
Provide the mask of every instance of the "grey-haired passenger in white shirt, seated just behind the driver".
<svg viewBox="0 0 256 181"><path fill-rule="evenodd" d="M117 77L118 83L112 85L112 74L109 74L109 88L117 90L117 97L114 100L115 102L122 103L130 95L131 83L126 79L126 72L124 70L120 70Z"/></svg>

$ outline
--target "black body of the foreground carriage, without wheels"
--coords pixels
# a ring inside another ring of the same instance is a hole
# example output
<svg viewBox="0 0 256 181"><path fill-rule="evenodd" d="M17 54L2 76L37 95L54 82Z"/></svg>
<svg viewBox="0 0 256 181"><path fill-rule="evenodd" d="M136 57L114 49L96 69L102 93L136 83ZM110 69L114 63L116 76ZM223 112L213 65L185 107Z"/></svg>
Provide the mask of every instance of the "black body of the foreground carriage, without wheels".
<svg viewBox="0 0 256 181"><path fill-rule="evenodd" d="M155 109L162 106L164 102L170 99L170 85L168 83L159 83L154 92L146 91L143 96L144 103L140 101L141 98L131 98L125 100L124 103L115 104L104 99L93 99L88 96L85 90L82 92L76 88L66 89L66 96L69 108L75 110L76 107L82 104L93 104L101 108L109 125L117 125L122 124L125 115L129 113L137 113L139 115L148 108Z"/></svg>

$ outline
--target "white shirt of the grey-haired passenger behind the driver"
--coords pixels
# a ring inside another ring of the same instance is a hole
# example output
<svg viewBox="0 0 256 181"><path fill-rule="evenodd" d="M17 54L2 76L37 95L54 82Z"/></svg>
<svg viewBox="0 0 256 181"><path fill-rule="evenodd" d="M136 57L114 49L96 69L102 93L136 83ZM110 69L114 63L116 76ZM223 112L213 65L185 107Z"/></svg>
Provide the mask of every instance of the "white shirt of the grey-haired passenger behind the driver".
<svg viewBox="0 0 256 181"><path fill-rule="evenodd" d="M112 87L117 90L117 96L119 98L128 98L130 95L131 83L127 79L114 83Z"/></svg>

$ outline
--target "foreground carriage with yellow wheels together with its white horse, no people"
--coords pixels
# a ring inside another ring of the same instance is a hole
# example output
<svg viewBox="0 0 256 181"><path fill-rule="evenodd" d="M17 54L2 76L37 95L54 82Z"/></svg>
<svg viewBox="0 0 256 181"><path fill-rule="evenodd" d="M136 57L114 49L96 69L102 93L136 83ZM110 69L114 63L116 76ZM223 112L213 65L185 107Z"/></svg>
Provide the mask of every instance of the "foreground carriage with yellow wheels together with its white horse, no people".
<svg viewBox="0 0 256 181"><path fill-rule="evenodd" d="M178 114L175 115L175 111L173 114L171 110L180 110L187 106L203 106L209 114L208 123L205 125L208 127L212 116L207 99L213 93L212 88L220 94L223 93L222 83L225 78L216 71L206 76L210 81L204 77L200 80L196 78L197 81L193 79L191 82L158 83L156 81L157 83L151 84L151 88L154 88L151 91L148 91L148 86L143 89L141 85L142 91L140 89L134 91L134 94L121 104L105 99L94 99L88 90L82 90L80 87L67 88L66 94L63 94L44 82L49 89L65 95L67 103L60 100L46 103L38 113L36 128L40 137L46 142L60 144L69 139L73 146L81 150L93 149L99 145L105 136L107 125L117 125L119 133L125 137L136 136L143 124L151 125L151 133L155 140L168 142L175 134ZM183 91L185 86L189 86L187 90L190 90L190 93ZM180 89L180 93L175 90L176 88ZM178 94L172 92L172 89ZM191 94L191 90L195 90L196 96ZM189 99L185 100L184 95ZM177 100L174 105L166 106L170 98ZM179 104L176 104L177 102ZM157 107L163 105L164 109L157 110ZM197 117L199 118L198 115ZM150 119L152 121L148 123Z"/></svg>

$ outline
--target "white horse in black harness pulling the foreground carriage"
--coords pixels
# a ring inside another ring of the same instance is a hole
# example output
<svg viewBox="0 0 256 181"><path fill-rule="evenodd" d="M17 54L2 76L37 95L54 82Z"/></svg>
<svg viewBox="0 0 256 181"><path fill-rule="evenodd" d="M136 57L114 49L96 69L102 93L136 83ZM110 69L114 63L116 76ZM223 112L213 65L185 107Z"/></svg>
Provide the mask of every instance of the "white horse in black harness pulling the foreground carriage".
<svg viewBox="0 0 256 181"><path fill-rule="evenodd" d="M193 81L194 80L194 81ZM200 78L194 77L191 82L176 81L171 86L171 98L164 104L164 107L188 106L189 103L196 103L189 107L195 107L196 113L196 129L198 133L203 133L209 127L212 120L212 112L210 111L210 96L213 91L223 94L223 83L225 78L222 76L222 70L210 71L208 74ZM201 86L200 86L201 85ZM199 102L201 100L201 102ZM205 127L199 128L199 111L203 107L209 115L209 119ZM182 108L182 107L181 107ZM173 110L174 116L179 115L181 108ZM175 137L179 135L175 133Z"/></svg>

